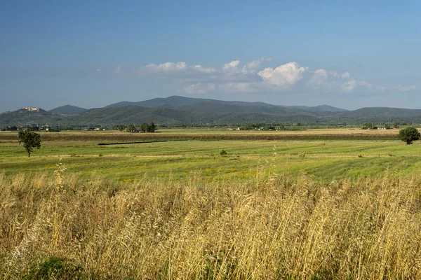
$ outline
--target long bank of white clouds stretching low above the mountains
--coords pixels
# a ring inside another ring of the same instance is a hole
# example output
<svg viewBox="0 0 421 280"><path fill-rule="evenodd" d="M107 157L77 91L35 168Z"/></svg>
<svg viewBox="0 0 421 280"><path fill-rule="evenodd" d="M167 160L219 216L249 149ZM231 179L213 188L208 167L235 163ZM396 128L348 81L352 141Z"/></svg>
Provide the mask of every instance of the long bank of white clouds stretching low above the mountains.
<svg viewBox="0 0 421 280"><path fill-rule="evenodd" d="M172 80L178 90L186 94L206 94L210 92L251 93L251 92L307 92L352 94L353 92L410 92L415 85L373 85L365 80L352 78L351 73L326 69L309 69L297 62L287 62L275 67L269 64L271 58L255 59L241 64L232 60L220 68L189 65L186 62L165 62L147 64L139 69L123 69L116 66L109 74L116 76L144 76ZM97 69L98 73L105 73Z"/></svg>

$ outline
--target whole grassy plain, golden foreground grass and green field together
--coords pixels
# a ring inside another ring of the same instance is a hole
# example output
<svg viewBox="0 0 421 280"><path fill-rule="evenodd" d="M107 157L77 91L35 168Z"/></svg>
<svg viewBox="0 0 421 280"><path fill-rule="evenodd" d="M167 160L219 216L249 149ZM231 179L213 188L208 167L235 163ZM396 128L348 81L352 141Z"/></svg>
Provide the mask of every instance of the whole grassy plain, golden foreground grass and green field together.
<svg viewBox="0 0 421 280"><path fill-rule="evenodd" d="M0 278L420 278L397 133L0 133Z"/></svg>

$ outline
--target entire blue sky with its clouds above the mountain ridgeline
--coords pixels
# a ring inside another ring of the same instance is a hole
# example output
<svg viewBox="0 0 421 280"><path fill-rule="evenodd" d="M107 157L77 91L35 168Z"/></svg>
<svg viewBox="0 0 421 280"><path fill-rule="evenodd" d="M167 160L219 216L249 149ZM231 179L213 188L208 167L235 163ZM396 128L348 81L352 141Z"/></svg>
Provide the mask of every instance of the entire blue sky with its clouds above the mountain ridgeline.
<svg viewBox="0 0 421 280"><path fill-rule="evenodd" d="M0 1L0 112L174 94L421 109L420 1Z"/></svg>

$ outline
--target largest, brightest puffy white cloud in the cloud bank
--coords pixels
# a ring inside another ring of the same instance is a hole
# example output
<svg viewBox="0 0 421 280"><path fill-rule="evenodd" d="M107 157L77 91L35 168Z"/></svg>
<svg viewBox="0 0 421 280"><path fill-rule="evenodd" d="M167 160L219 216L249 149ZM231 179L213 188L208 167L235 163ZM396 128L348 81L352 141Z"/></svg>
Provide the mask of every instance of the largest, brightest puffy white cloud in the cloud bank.
<svg viewBox="0 0 421 280"><path fill-rule="evenodd" d="M266 83L278 86L294 85L302 79L302 74L307 71L307 67L300 67L296 62L289 62L275 69L268 67L258 72Z"/></svg>

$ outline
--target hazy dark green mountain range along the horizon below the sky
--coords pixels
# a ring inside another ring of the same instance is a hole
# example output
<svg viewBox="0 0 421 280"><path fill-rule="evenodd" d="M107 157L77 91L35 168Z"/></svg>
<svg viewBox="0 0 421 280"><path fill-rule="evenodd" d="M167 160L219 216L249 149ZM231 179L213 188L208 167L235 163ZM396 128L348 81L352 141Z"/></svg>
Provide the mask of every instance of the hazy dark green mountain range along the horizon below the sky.
<svg viewBox="0 0 421 280"><path fill-rule="evenodd" d="M279 106L263 102L223 101L171 96L141 102L118 102L103 108L83 109L65 105L50 111L25 107L0 114L0 126L69 125L107 126L129 123L159 125L241 125L276 123L302 125L377 125L396 121L421 123L421 110L388 107L362 108L354 111L328 105Z"/></svg>

